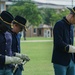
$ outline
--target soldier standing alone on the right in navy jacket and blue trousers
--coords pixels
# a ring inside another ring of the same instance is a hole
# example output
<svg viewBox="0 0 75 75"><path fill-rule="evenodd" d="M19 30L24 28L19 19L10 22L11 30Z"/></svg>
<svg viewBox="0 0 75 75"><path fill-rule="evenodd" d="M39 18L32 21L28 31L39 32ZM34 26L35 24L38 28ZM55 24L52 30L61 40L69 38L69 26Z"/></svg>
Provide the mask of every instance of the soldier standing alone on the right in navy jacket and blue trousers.
<svg viewBox="0 0 75 75"><path fill-rule="evenodd" d="M75 75L75 7L68 9L70 13L56 22L53 29L52 63L55 75Z"/></svg>

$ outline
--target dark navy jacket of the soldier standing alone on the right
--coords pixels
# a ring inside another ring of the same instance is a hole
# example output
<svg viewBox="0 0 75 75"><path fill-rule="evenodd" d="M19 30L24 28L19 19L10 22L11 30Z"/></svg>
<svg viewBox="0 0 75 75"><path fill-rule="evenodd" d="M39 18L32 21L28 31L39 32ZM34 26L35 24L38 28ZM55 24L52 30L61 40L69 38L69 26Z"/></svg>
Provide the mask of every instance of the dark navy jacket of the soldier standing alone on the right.
<svg viewBox="0 0 75 75"><path fill-rule="evenodd" d="M53 29L54 46L52 62L54 64L68 65L72 59L72 53L65 49L67 45L73 45L73 25L66 18L58 21Z"/></svg>

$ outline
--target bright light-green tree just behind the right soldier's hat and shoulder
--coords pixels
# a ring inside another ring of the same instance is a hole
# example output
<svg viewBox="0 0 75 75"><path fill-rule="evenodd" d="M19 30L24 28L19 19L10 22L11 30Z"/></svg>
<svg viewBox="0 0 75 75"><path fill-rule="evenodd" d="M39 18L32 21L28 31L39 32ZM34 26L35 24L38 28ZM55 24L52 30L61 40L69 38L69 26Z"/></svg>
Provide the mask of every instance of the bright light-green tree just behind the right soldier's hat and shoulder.
<svg viewBox="0 0 75 75"><path fill-rule="evenodd" d="M58 20L62 19L68 13L69 13L69 11L67 9L54 10L53 12L51 12L52 16L50 18L50 21L51 21L52 25L54 25Z"/></svg>

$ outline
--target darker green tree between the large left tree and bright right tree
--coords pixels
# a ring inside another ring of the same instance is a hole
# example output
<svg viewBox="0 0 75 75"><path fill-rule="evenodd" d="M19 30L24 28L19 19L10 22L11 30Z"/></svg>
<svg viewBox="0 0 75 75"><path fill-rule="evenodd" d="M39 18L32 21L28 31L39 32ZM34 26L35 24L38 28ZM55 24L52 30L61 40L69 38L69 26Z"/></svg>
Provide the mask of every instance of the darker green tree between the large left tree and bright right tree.
<svg viewBox="0 0 75 75"><path fill-rule="evenodd" d="M50 8L43 8L40 9L40 11L44 23L50 25L54 21L53 15L55 14L55 10Z"/></svg>

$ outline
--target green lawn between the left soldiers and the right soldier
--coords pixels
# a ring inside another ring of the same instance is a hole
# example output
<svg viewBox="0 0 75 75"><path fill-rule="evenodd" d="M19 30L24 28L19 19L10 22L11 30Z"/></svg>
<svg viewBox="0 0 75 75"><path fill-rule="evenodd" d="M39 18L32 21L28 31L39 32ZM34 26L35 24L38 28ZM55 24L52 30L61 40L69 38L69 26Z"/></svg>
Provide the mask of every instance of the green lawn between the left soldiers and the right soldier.
<svg viewBox="0 0 75 75"><path fill-rule="evenodd" d="M41 37L26 39L52 40ZM54 75L51 63L52 46L52 42L21 42L21 52L30 57L30 61L24 65L23 75Z"/></svg>

